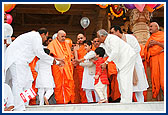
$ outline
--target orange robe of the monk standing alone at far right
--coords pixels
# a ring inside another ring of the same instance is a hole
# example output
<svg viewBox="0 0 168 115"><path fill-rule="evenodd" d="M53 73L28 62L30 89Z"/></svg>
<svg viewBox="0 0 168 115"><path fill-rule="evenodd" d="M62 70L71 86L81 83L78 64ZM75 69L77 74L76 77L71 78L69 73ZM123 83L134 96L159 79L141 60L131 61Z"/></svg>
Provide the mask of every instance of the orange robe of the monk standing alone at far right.
<svg viewBox="0 0 168 115"><path fill-rule="evenodd" d="M154 45L147 49L150 40L164 43L164 32L158 31L153 33L146 42L144 49L145 61L150 64L152 94L153 98L156 98L159 94L160 87L164 92L164 51L162 51L163 48L159 45Z"/></svg>

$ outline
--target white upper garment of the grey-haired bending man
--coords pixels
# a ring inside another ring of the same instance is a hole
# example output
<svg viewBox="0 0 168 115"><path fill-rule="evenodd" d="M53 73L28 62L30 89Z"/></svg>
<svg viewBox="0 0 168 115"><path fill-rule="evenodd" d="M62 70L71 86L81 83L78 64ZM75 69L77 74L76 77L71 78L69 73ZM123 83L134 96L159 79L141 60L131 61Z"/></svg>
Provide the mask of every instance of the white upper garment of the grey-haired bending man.
<svg viewBox="0 0 168 115"><path fill-rule="evenodd" d="M107 61L113 61L117 68L121 70L135 55L135 51L130 45L121 40L118 36L109 34L104 41L107 55Z"/></svg>

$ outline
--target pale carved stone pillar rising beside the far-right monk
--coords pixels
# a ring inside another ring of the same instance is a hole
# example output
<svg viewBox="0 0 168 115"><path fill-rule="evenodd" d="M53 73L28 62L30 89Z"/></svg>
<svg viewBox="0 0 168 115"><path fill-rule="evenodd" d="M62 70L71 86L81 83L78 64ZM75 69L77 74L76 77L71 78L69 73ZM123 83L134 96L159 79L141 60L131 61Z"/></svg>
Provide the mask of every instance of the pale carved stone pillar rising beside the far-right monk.
<svg viewBox="0 0 168 115"><path fill-rule="evenodd" d="M149 21L149 11L146 9L144 9L143 12L140 12L138 9L133 9L130 13L132 32L137 37L139 43L145 44L150 37L148 27Z"/></svg>

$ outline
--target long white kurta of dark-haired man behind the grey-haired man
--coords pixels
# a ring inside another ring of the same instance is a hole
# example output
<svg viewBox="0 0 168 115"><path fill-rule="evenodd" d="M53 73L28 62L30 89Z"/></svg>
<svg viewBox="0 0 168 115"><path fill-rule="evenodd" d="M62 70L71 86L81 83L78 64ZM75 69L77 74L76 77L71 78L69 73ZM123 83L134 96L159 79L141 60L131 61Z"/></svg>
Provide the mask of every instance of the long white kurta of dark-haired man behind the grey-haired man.
<svg viewBox="0 0 168 115"><path fill-rule="evenodd" d="M137 39L130 34L125 34L127 43L135 50L136 52L136 61L135 61L135 69L138 76L138 83L136 86L133 86L133 92L145 91L149 87L148 81L146 79L146 74L144 70L144 66L142 63L142 59L140 56L140 45Z"/></svg>

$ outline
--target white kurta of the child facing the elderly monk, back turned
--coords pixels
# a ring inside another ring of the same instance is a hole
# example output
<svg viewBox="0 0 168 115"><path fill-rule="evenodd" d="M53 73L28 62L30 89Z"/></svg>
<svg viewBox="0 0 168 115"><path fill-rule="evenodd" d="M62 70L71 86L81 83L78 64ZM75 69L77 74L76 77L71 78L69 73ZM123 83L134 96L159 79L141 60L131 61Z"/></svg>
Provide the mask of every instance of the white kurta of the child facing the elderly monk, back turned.
<svg viewBox="0 0 168 115"><path fill-rule="evenodd" d="M36 78L36 88L54 88L54 79L52 76L51 65L47 64L43 60L38 60L38 75Z"/></svg>

